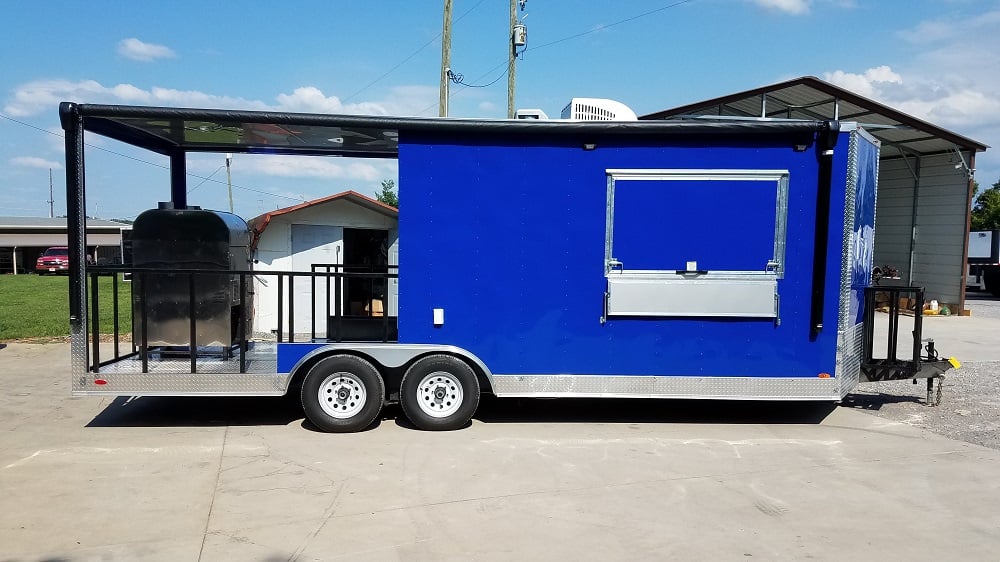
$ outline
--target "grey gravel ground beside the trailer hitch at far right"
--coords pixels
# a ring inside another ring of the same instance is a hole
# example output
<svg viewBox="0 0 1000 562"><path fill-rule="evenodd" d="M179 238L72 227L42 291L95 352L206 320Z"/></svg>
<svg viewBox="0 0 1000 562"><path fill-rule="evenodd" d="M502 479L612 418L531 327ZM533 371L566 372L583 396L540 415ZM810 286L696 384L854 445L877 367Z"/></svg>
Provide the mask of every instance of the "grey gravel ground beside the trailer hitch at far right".
<svg viewBox="0 0 1000 562"><path fill-rule="evenodd" d="M970 292L966 306L973 316L1000 319L1000 299ZM998 324L997 329L1000 329ZM1000 449L1000 361L962 363L946 373L941 404L926 405L924 381L862 383L843 405L886 420Z"/></svg>

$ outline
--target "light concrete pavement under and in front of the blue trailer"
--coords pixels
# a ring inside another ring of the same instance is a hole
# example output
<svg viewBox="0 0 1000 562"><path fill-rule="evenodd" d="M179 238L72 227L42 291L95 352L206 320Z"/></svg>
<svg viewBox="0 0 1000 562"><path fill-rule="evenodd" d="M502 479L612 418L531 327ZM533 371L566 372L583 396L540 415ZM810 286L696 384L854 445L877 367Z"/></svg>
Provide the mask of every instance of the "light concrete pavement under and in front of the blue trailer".
<svg viewBox="0 0 1000 562"><path fill-rule="evenodd" d="M0 351L0 560L1000 551L1000 452L831 405L494 400L330 435L283 399L72 398L68 364Z"/></svg>

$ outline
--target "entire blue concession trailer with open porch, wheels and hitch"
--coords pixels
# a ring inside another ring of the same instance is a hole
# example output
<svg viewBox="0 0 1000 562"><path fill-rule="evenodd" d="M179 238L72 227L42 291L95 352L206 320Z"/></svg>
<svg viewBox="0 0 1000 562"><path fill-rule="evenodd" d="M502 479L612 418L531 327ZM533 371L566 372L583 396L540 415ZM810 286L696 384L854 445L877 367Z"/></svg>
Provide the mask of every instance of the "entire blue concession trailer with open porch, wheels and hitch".
<svg viewBox="0 0 1000 562"><path fill-rule="evenodd" d="M76 394L296 392L327 431L363 429L390 402L419 428L454 429L484 392L836 401L860 380L927 378L930 393L952 366L933 346L921 349L919 288L885 289L888 353L873 357L879 146L850 123L73 103L60 115L78 258L70 287ZM159 196L169 200L137 219L135 231L150 240L135 247L183 251L133 256L128 268L80 259L90 132L169 156L171 183ZM349 263L254 271L253 233L240 232L240 219L188 204L190 152L398 158L398 272ZM184 226L164 226L171 221ZM192 244L202 228L214 233L211 248ZM116 324L113 356L102 356L94 342L107 334L87 305L121 316L117 289L101 295L96 280L125 269L136 281L132 341L122 349ZM397 316L346 310L345 287L375 279L398 282ZM279 329L255 338L248 326L262 291L277 292ZM290 328L296 301L312 305L311 333ZM900 359L907 307L912 353Z"/></svg>

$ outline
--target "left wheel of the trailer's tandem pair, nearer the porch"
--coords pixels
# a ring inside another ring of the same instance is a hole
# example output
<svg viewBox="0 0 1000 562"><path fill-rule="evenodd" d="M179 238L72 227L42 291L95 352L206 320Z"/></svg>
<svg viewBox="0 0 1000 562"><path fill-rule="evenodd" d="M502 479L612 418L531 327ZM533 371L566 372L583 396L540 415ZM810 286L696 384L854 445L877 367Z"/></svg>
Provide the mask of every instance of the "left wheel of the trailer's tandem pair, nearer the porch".
<svg viewBox="0 0 1000 562"><path fill-rule="evenodd" d="M361 431L382 410L385 383L375 367L353 355L333 355L306 373L302 410L316 427L332 433Z"/></svg>

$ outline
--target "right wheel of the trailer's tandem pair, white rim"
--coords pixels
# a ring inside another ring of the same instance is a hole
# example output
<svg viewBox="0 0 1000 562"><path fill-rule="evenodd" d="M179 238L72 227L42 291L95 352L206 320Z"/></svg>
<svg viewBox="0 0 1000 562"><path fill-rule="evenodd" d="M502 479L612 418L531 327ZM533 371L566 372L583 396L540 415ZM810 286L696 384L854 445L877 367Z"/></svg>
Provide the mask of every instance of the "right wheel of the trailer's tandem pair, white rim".
<svg viewBox="0 0 1000 562"><path fill-rule="evenodd" d="M424 357L403 375L399 403L406 417L420 429L458 429L472 419L479 406L479 379L461 359L450 355Z"/></svg>

